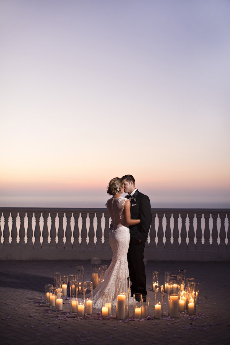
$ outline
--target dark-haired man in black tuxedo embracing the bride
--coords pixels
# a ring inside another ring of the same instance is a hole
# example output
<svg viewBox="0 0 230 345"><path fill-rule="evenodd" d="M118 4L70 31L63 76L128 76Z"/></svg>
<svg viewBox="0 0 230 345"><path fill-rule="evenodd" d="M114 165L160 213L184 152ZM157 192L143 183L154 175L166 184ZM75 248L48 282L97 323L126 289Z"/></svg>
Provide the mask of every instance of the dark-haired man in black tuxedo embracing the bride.
<svg viewBox="0 0 230 345"><path fill-rule="evenodd" d="M137 225L132 225L130 229L130 244L128 250L129 275L131 280L131 296L134 293L141 293L146 297L146 273L144 268L144 246L149 234L152 221L151 205L147 195L140 193L135 187L135 180L132 175L122 177L124 183L124 193L128 193L131 206L131 219L141 219Z"/></svg>

